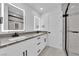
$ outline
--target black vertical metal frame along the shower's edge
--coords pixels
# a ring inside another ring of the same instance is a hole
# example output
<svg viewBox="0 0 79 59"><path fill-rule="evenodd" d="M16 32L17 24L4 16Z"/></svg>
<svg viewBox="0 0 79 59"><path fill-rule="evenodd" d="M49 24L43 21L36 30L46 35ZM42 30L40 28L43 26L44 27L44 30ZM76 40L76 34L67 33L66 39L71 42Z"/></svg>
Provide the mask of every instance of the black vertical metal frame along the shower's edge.
<svg viewBox="0 0 79 59"><path fill-rule="evenodd" d="M65 13L63 14L63 47L65 50L66 55L68 56L68 39L67 39L67 17L68 17L68 9L69 9L70 3L67 3L67 7L65 10Z"/></svg>

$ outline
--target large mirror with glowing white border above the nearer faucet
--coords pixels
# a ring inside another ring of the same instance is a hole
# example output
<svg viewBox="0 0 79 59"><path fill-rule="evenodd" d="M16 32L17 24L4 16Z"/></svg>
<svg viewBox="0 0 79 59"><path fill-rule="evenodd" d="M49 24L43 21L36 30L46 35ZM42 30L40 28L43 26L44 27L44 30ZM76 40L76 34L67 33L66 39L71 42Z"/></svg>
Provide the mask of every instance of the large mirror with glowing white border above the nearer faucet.
<svg viewBox="0 0 79 59"><path fill-rule="evenodd" d="M25 11L13 4L2 4L2 32L24 31L25 30Z"/></svg>

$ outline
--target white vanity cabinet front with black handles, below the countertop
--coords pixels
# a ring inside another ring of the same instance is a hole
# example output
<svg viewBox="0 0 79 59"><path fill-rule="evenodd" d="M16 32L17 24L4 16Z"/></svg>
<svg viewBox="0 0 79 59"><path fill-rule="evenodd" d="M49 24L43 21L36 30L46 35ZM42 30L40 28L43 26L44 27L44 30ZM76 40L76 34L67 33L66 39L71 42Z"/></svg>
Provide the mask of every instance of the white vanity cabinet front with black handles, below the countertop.
<svg viewBox="0 0 79 59"><path fill-rule="evenodd" d="M0 56L37 56L46 46L46 37L45 34L0 48Z"/></svg>

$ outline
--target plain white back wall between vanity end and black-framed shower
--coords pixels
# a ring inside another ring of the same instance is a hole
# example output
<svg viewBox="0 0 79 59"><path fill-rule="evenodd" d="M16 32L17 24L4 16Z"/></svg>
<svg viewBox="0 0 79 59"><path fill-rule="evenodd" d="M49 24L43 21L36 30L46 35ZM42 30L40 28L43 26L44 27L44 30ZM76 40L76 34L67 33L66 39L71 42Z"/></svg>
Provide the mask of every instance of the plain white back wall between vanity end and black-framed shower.
<svg viewBox="0 0 79 59"><path fill-rule="evenodd" d="M48 46L62 49L63 43L63 19L61 4L56 4L52 12L48 15L49 20L49 35Z"/></svg>

